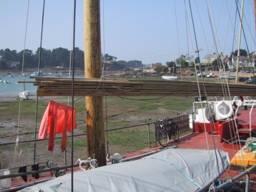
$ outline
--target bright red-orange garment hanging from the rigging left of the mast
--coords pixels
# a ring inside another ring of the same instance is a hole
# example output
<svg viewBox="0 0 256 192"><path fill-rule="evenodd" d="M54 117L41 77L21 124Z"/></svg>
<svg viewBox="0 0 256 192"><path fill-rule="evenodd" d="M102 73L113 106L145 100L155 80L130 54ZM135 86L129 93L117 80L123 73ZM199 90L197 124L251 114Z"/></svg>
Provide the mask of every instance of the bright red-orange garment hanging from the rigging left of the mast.
<svg viewBox="0 0 256 192"><path fill-rule="evenodd" d="M76 109L73 109L73 127L76 128ZM67 131L72 130L72 107L50 101L45 114L43 114L40 129L38 132L39 139L46 139L49 135L48 151L53 151L56 134L62 134L61 151L67 148Z"/></svg>

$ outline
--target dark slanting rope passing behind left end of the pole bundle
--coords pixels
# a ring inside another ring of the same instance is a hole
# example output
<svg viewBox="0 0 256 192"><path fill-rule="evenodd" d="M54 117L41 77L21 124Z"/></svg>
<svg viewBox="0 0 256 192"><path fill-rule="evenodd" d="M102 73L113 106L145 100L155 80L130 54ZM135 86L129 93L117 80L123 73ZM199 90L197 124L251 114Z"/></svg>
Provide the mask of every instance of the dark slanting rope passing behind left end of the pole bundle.
<svg viewBox="0 0 256 192"><path fill-rule="evenodd" d="M43 0L43 13L42 13L42 24L41 24L41 38L40 38L40 48L39 48L39 58L38 58L38 76L40 76L40 66L41 66L41 50L42 50L42 40L43 40L43 17L45 15L45 0ZM37 111L38 111L38 96L36 97L36 117L35 117L35 144L34 144L34 163L36 163L36 133L37 133Z"/></svg>

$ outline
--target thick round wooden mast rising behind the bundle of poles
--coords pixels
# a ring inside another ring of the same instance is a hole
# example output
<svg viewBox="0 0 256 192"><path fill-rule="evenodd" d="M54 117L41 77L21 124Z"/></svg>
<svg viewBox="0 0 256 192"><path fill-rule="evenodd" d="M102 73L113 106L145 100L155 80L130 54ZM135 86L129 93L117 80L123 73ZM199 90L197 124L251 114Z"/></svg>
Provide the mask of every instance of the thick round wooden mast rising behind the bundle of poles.
<svg viewBox="0 0 256 192"><path fill-rule="evenodd" d="M85 78L101 77L100 0L84 0ZM85 98L87 155L95 154L99 166L106 165L103 97Z"/></svg>

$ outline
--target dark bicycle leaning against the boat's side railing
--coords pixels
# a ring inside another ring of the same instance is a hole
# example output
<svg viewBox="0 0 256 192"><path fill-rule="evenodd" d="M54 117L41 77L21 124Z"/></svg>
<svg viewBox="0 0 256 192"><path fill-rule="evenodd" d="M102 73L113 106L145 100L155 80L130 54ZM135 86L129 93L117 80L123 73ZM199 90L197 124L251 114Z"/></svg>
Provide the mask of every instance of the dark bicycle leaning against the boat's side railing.
<svg viewBox="0 0 256 192"><path fill-rule="evenodd" d="M171 122L171 120L169 120L168 124L162 123L160 128L157 130L156 136L159 144L166 147L169 145L170 139L173 139L175 142L179 140L179 126L174 122Z"/></svg>

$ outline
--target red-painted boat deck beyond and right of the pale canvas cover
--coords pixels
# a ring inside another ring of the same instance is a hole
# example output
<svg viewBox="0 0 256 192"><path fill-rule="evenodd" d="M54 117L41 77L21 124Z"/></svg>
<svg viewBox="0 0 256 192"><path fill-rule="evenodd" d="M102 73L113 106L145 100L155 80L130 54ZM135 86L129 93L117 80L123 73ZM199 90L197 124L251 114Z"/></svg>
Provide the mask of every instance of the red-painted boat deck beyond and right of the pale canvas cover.
<svg viewBox="0 0 256 192"><path fill-rule="evenodd" d="M254 129L254 131L256 131L255 114L256 114L256 108L252 110L252 120L251 120L252 129ZM249 115L250 115L250 110L238 111L237 119L238 119L238 124L240 129L249 130L249 124L250 124ZM249 134L247 136L249 136ZM222 140L220 137L222 137L222 134L218 135L218 134L209 134L209 132L191 132L188 135L180 137L178 142L170 142L169 146L176 145L181 149L209 149L209 150L221 149L223 151L228 152L229 159L231 160L233 156L236 154L236 152L238 151L238 147L232 144L228 144L228 147L227 147L227 142L220 142ZM151 147L149 149L145 149L141 151L136 151L131 154L127 154L125 157L140 155L145 152L149 152L157 149L160 149L159 146ZM221 179L234 178L234 176L237 176L240 173L242 172L228 169L226 173L221 175ZM243 178L240 178L240 180L245 181L246 176L244 176ZM256 192L256 174L250 174L250 181L252 181L252 186L250 186L249 191Z"/></svg>

